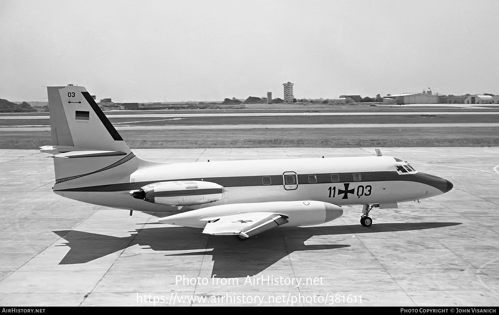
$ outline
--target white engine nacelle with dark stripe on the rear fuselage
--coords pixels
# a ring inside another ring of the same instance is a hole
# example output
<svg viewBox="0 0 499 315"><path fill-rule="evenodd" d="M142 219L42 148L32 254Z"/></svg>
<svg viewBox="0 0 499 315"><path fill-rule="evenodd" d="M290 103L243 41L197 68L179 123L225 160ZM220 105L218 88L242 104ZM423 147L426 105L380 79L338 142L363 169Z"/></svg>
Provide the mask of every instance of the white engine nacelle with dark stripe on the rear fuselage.
<svg viewBox="0 0 499 315"><path fill-rule="evenodd" d="M209 181L161 181L130 191L137 199L170 206L190 206L221 200L224 187Z"/></svg>

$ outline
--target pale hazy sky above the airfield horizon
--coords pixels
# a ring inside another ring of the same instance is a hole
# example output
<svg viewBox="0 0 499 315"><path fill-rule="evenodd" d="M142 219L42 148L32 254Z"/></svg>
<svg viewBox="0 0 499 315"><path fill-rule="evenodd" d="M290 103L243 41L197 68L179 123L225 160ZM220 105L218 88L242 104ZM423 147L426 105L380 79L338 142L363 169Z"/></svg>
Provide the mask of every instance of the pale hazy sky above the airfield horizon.
<svg viewBox="0 0 499 315"><path fill-rule="evenodd" d="M0 98L499 94L499 1L0 0Z"/></svg>

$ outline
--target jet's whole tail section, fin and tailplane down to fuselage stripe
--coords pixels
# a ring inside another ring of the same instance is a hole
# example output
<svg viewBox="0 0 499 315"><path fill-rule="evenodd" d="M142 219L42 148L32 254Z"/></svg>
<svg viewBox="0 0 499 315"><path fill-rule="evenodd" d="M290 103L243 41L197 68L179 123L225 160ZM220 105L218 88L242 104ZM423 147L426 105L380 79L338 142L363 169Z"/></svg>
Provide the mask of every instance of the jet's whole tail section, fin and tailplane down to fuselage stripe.
<svg viewBox="0 0 499 315"><path fill-rule="evenodd" d="M54 191L86 185L128 182L138 167L130 151L93 98L82 86L47 87Z"/></svg>

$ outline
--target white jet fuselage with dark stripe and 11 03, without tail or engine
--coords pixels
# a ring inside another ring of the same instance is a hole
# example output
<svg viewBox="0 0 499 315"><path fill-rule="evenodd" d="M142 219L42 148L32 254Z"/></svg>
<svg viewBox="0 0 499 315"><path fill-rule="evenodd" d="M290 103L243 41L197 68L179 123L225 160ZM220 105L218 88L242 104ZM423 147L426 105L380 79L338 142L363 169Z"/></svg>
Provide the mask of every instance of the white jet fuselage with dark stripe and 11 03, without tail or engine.
<svg viewBox="0 0 499 315"><path fill-rule="evenodd" d="M432 197L452 188L452 184L437 176L397 171L398 165L405 164L386 156L149 163L131 173L128 182L63 190L54 188L54 192L111 207L184 212L221 204L295 200L318 200L336 205L390 205ZM222 198L178 210L130 196L131 190L168 181L216 183L223 186Z"/></svg>

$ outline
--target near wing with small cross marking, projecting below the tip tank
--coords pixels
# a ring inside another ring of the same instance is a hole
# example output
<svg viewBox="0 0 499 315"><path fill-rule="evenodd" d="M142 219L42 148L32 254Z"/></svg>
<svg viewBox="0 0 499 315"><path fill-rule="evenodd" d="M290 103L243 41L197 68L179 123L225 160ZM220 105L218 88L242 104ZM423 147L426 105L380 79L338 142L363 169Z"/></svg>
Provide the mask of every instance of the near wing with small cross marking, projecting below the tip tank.
<svg viewBox="0 0 499 315"><path fill-rule="evenodd" d="M240 235L248 238L288 222L284 214L272 212L248 212L226 215L208 221L203 233L211 235Z"/></svg>

